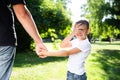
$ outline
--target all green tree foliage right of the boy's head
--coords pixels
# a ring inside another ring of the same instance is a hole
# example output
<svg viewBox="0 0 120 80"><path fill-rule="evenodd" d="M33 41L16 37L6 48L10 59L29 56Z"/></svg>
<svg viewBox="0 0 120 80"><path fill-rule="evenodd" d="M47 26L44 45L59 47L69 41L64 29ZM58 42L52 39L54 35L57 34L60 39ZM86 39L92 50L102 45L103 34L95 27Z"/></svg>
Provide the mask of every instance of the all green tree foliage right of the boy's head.
<svg viewBox="0 0 120 80"><path fill-rule="evenodd" d="M120 34L120 1L88 0L86 17L93 38L116 38Z"/></svg>

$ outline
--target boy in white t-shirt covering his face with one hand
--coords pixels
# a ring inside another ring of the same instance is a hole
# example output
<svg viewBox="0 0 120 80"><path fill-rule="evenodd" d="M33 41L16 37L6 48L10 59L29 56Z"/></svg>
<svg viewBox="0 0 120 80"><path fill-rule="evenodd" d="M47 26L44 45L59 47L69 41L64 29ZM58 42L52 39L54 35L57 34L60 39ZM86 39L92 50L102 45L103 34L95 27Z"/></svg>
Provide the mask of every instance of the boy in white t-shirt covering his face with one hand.
<svg viewBox="0 0 120 80"><path fill-rule="evenodd" d="M69 56L67 80L86 80L84 62L91 51L91 45L87 38L89 32L89 23L86 20L80 20L76 22L72 33L60 44L62 48L72 48L54 52L42 51L39 55L41 58L47 56ZM74 36L76 39L71 40Z"/></svg>

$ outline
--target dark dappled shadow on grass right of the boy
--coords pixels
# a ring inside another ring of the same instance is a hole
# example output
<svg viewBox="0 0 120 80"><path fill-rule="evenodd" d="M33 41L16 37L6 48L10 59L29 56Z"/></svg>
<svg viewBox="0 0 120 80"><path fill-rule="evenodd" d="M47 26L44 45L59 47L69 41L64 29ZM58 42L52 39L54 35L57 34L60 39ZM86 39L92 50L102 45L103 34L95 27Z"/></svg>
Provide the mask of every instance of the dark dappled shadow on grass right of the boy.
<svg viewBox="0 0 120 80"><path fill-rule="evenodd" d="M101 64L106 80L120 80L120 50L103 49L97 51L97 61Z"/></svg>

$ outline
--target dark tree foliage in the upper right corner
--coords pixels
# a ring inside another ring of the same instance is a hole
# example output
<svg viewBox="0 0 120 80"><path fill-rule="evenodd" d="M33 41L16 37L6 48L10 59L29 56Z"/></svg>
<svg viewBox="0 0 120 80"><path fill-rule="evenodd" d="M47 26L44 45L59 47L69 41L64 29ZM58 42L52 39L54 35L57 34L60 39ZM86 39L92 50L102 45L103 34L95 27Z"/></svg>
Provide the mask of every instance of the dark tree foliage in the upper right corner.
<svg viewBox="0 0 120 80"><path fill-rule="evenodd" d="M111 0L106 2L105 5L106 8L104 12L107 16L109 16L107 19L105 19L105 23L120 29L120 0Z"/></svg>

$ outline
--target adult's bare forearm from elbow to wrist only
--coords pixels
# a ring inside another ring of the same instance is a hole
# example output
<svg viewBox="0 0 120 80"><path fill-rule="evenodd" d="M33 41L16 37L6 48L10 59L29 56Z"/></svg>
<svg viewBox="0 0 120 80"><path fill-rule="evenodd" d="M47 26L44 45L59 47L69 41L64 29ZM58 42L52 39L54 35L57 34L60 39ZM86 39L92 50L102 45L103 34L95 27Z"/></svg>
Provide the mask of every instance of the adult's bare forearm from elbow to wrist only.
<svg viewBox="0 0 120 80"><path fill-rule="evenodd" d="M36 43L42 42L41 37L39 36L36 24L30 15L29 12L24 16L24 19L21 17L21 24L23 25L24 29L27 33L34 39Z"/></svg>

